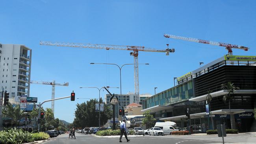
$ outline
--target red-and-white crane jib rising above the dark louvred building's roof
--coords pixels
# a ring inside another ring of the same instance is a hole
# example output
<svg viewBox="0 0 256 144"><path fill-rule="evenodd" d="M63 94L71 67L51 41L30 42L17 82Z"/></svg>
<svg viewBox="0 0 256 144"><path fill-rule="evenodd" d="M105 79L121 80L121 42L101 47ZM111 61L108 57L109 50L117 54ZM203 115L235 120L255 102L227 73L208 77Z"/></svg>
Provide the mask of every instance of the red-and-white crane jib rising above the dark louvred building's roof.
<svg viewBox="0 0 256 144"><path fill-rule="evenodd" d="M233 55L232 54L232 48L242 49L242 50L245 50L245 51L249 50L249 48L247 48L245 46L238 46L236 44L226 44L226 43L223 43L223 42L214 42L214 41L208 41L208 40L204 40L204 39L181 37L181 36L169 35L169 34L164 34L163 36L166 37L166 38L181 39L181 40L184 40L184 41L199 42L199 43L211 44L211 45L215 45L215 46L224 46L224 47L226 47L226 50L228 50L229 55Z"/></svg>

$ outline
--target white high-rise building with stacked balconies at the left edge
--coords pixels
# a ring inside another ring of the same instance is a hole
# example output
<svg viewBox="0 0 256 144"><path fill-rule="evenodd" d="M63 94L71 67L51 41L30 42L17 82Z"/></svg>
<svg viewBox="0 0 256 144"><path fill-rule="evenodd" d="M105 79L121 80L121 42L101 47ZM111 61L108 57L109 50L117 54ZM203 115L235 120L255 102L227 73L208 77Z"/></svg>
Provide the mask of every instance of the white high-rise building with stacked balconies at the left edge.
<svg viewBox="0 0 256 144"><path fill-rule="evenodd" d="M9 92L9 102L18 104L29 96L32 50L21 44L0 44L0 91Z"/></svg>

